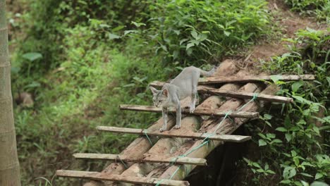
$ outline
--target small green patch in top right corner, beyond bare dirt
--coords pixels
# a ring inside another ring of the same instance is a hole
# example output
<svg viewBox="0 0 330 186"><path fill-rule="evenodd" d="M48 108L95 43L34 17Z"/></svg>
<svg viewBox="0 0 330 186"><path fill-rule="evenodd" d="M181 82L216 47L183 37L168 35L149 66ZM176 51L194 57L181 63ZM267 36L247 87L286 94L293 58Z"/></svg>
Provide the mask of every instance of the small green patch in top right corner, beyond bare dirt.
<svg viewBox="0 0 330 186"><path fill-rule="evenodd" d="M318 20L330 21L329 0L286 0L293 11L299 11L309 16L315 16Z"/></svg>

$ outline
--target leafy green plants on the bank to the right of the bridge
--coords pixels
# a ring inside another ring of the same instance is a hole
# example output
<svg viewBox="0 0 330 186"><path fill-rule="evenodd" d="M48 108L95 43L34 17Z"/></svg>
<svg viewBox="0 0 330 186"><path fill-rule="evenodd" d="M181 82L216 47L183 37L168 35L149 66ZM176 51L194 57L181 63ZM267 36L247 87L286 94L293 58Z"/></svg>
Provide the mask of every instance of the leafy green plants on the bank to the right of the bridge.
<svg viewBox="0 0 330 186"><path fill-rule="evenodd" d="M255 137L261 148L259 164L268 163L272 170L278 170L276 174L282 175L281 184L329 182L329 137L326 137L330 132L329 36L315 30L300 30L291 42L291 52L264 63L264 68L271 73L314 74L316 80L281 82L274 77L274 83L281 87L278 94L293 97L295 102L283 104L281 108L275 105L281 111L274 109L271 111L279 114L261 117L263 129L249 128L254 133L252 136L259 136ZM302 44L305 47L298 48ZM253 171L256 167L251 162L247 161ZM255 180L267 177L264 171L253 173Z"/></svg>

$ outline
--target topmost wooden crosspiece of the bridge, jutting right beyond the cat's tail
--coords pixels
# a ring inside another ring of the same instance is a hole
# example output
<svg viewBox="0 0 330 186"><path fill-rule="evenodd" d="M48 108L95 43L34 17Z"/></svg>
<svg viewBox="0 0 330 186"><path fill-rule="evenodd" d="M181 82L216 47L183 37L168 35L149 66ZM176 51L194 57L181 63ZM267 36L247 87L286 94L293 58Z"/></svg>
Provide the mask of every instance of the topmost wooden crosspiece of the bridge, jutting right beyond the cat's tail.
<svg viewBox="0 0 330 186"><path fill-rule="evenodd" d="M200 78L198 84L216 84L228 82L262 82L270 81L272 76L278 77L281 81L315 80L314 75L264 75L259 77L206 77Z"/></svg>

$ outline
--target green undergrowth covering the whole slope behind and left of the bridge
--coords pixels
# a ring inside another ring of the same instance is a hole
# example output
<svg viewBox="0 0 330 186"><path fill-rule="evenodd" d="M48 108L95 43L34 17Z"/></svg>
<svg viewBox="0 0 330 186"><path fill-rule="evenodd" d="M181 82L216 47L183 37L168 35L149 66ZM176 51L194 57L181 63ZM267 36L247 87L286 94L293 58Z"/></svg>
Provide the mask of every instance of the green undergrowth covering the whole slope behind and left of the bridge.
<svg viewBox="0 0 330 186"><path fill-rule="evenodd" d="M189 65L209 68L270 32L263 0L114 2L8 1L13 95L29 92L35 101L14 108L23 185L51 180L60 168L101 171L104 163L71 155L118 153L135 136L95 126L155 120L119 104L151 104L149 82Z"/></svg>

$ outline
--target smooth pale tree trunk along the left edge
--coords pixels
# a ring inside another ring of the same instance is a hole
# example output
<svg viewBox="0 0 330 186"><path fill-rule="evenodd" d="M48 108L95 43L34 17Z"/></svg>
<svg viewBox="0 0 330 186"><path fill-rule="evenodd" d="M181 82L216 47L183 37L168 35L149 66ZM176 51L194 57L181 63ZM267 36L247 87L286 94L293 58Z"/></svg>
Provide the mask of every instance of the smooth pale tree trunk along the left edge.
<svg viewBox="0 0 330 186"><path fill-rule="evenodd" d="M0 185L20 185L20 166L13 123L5 0L0 0Z"/></svg>

